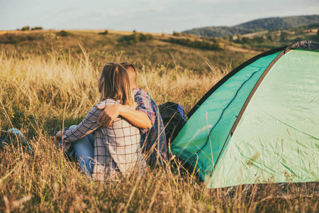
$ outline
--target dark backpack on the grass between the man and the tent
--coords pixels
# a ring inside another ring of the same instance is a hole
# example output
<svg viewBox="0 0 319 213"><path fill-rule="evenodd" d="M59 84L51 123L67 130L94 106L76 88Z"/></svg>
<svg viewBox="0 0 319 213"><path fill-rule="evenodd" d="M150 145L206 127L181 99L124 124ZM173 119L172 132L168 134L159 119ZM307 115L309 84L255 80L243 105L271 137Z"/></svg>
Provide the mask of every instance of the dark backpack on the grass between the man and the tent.
<svg viewBox="0 0 319 213"><path fill-rule="evenodd" d="M166 141L171 143L186 123L184 109L173 102L166 102L158 107L165 126Z"/></svg>

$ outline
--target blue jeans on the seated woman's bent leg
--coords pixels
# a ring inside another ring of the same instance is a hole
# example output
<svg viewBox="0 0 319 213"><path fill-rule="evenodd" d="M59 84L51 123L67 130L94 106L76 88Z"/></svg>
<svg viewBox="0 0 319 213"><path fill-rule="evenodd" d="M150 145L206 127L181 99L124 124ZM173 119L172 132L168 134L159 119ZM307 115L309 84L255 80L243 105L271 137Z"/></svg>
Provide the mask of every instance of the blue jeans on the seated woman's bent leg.
<svg viewBox="0 0 319 213"><path fill-rule="evenodd" d="M69 129L74 129L77 125L72 125ZM61 141L62 142L62 141ZM91 134L72 143L77 156L79 168L84 175L91 175L94 165L94 138ZM72 153L70 153L72 155Z"/></svg>

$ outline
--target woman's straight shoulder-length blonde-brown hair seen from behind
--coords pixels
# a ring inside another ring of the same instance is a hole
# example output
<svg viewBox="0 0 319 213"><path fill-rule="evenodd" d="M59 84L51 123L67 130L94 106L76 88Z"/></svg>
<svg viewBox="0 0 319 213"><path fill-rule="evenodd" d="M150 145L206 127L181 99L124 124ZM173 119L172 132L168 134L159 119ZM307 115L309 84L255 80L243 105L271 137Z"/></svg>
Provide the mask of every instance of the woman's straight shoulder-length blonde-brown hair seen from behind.
<svg viewBox="0 0 319 213"><path fill-rule="evenodd" d="M103 85L101 101L105 99L119 100L122 105L134 108L133 92L125 68L118 63L108 63L103 67L101 77Z"/></svg>

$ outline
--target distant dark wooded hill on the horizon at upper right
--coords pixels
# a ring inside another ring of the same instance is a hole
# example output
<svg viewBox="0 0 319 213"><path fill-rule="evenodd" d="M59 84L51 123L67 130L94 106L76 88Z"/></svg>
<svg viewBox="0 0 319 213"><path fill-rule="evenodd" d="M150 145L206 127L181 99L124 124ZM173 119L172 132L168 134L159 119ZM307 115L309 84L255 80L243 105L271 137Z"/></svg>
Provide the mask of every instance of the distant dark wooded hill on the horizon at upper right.
<svg viewBox="0 0 319 213"><path fill-rule="evenodd" d="M208 37L223 37L225 35L253 33L255 31L263 30L272 31L275 29L309 25L319 25L319 15L260 18L254 21L241 23L237 26L194 28L189 31L183 31L182 33Z"/></svg>

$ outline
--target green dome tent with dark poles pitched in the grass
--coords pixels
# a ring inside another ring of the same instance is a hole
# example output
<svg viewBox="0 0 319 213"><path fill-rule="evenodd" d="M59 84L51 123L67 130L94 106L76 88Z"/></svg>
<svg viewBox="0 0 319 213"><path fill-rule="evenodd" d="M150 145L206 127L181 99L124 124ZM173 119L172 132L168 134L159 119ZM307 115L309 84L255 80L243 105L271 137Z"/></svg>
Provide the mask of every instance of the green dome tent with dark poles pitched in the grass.
<svg viewBox="0 0 319 213"><path fill-rule="evenodd" d="M319 44L244 62L191 109L171 144L208 187L319 180Z"/></svg>

